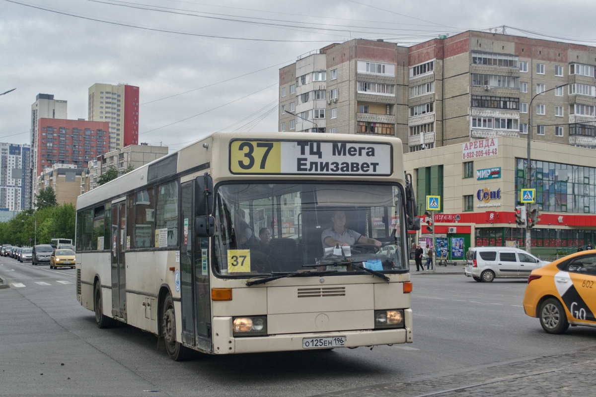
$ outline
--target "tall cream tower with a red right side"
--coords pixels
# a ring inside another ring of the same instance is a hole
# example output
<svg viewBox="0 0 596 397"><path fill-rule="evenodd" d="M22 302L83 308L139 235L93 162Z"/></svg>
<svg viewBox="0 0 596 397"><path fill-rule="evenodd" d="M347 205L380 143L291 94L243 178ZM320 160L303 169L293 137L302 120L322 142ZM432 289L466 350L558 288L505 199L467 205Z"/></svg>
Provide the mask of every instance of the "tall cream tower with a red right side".
<svg viewBox="0 0 596 397"><path fill-rule="evenodd" d="M89 121L110 123L110 151L138 145L139 87L125 83L89 87Z"/></svg>

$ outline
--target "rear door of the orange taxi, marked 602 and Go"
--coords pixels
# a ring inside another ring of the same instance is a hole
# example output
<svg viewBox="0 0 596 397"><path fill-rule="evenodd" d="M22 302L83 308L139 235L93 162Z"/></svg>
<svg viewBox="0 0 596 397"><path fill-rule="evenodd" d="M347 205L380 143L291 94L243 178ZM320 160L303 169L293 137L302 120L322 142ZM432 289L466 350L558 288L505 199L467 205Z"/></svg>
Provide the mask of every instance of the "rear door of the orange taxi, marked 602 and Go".
<svg viewBox="0 0 596 397"><path fill-rule="evenodd" d="M573 317L570 321L596 323L596 255L573 258L555 275L561 299Z"/></svg>

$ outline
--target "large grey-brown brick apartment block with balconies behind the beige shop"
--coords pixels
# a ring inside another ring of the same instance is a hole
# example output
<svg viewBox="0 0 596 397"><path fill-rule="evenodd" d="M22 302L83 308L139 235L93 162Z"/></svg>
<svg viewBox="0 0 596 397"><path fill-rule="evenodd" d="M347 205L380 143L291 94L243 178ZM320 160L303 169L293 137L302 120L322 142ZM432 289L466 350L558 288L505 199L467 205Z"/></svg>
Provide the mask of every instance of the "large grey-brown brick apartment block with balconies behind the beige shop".
<svg viewBox="0 0 596 397"><path fill-rule="evenodd" d="M354 39L280 69L279 129L393 135L415 152L531 125L533 139L596 149L595 66L596 47L498 33Z"/></svg>

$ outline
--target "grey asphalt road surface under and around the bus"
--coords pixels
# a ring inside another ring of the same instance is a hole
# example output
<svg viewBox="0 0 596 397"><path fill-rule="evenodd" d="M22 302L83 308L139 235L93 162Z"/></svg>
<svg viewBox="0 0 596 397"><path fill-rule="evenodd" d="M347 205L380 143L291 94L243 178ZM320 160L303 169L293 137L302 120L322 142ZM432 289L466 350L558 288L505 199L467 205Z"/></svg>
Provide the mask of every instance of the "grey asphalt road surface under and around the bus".
<svg viewBox="0 0 596 397"><path fill-rule="evenodd" d="M132 327L100 330L75 297L75 271L0 258L0 395L312 396L589 348L596 329L543 332L526 282L412 277L414 343L173 362ZM156 391L154 391L156 390Z"/></svg>

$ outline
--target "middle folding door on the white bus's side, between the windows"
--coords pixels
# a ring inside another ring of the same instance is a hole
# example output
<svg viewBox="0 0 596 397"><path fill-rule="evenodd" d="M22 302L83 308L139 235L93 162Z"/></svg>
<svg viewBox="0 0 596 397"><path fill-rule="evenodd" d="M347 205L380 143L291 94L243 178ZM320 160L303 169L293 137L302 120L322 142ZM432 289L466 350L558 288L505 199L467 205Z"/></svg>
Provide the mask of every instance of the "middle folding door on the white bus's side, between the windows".
<svg viewBox="0 0 596 397"><path fill-rule="evenodd" d="M126 320L126 200L112 204L111 220L112 315Z"/></svg>

